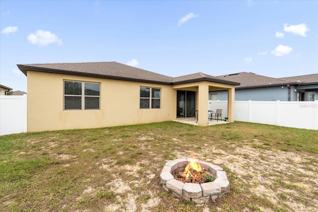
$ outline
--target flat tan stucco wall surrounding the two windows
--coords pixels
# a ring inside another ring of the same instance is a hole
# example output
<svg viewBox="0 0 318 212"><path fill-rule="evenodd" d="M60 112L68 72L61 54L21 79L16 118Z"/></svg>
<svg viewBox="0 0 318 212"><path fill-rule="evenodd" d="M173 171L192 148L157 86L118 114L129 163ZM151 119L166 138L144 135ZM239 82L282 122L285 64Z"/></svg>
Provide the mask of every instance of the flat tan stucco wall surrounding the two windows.
<svg viewBox="0 0 318 212"><path fill-rule="evenodd" d="M27 71L28 132L100 128L176 119L170 85ZM63 80L100 83L100 110L63 110ZM140 109L140 86L161 88L160 109Z"/></svg>

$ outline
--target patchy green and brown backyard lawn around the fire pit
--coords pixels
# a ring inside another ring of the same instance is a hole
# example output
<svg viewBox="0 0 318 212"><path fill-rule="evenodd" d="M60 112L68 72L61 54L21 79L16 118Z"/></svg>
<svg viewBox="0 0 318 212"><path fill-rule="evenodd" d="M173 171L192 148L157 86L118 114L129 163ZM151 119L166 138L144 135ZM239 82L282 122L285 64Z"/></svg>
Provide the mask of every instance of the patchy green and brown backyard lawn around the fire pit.
<svg viewBox="0 0 318 212"><path fill-rule="evenodd" d="M221 166L231 190L204 206L175 198L168 160ZM0 211L318 211L318 131L163 122L0 137Z"/></svg>

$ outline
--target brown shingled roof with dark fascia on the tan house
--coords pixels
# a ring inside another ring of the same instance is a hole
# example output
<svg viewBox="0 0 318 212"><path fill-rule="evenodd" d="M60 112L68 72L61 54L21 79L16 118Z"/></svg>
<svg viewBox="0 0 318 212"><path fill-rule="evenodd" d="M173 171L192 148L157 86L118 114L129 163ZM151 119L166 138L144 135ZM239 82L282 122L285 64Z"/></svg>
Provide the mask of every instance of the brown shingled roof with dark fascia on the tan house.
<svg viewBox="0 0 318 212"><path fill-rule="evenodd" d="M49 73L71 74L159 84L180 84L194 81L211 81L231 85L239 85L238 82L228 81L226 79L219 79L215 76L203 73L170 77L152 71L146 71L143 69L127 66L117 62L21 64L17 65L17 67L25 75L27 75L27 71L41 71Z"/></svg>

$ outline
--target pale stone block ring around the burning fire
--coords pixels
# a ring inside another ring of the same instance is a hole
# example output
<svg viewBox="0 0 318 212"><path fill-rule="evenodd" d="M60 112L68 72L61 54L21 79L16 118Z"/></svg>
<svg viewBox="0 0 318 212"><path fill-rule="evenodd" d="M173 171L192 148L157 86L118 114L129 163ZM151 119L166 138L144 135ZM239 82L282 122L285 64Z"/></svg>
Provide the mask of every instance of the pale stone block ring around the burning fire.
<svg viewBox="0 0 318 212"><path fill-rule="evenodd" d="M189 161L198 162L206 171L214 175L215 180L208 183L183 183L174 179L172 172L180 167L185 167ZM205 204L210 199L215 200L230 191L230 182L222 167L195 158L181 158L165 163L160 174L162 187L170 190L175 197L197 204Z"/></svg>

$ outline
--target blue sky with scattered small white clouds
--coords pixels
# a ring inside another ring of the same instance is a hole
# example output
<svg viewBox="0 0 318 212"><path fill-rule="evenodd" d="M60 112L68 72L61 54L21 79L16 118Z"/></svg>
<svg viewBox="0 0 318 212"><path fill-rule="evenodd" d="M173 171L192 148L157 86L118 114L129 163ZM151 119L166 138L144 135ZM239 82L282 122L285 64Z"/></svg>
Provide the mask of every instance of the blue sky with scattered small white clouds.
<svg viewBox="0 0 318 212"><path fill-rule="evenodd" d="M318 73L318 1L0 0L0 84L16 64L115 61L168 76ZM40 88L39 88L40 89Z"/></svg>

